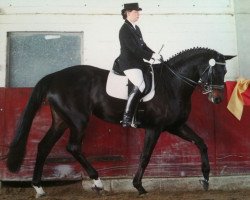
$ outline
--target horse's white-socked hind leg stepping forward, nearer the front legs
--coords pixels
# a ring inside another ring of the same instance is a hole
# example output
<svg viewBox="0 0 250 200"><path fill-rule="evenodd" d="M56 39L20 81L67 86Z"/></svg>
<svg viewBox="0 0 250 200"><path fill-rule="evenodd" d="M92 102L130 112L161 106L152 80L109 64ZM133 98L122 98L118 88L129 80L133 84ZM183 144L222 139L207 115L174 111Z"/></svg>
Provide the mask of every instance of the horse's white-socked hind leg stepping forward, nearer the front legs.
<svg viewBox="0 0 250 200"><path fill-rule="evenodd" d="M90 164L90 162L81 152L81 144L85 127L86 122L79 121L77 123L77 120L74 120L74 126L70 128L70 138L69 143L67 145L67 151L70 152L74 156L74 158L82 165L82 167L89 175L89 178L93 179L94 185L92 189L99 192L103 189L103 184L98 176L98 172L94 169L94 167Z"/></svg>

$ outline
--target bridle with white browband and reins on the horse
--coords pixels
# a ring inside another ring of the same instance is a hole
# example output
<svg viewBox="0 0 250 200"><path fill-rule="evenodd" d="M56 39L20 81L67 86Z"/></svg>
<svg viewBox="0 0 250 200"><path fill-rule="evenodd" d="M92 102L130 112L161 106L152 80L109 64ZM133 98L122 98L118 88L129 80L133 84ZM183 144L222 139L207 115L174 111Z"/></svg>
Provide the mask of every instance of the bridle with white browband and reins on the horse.
<svg viewBox="0 0 250 200"><path fill-rule="evenodd" d="M175 75L177 78L181 79L183 82L185 82L189 86L195 88L197 85L200 85L202 87L202 93L203 94L209 94L209 93L212 93L214 89L219 89L219 90L224 89L224 84L223 85L215 85L215 84L213 84L212 73L213 73L213 67L215 65L223 65L223 66L225 66L226 63L217 62L213 58L210 59L208 66L202 72L198 82L195 82L194 80L192 80L190 78L187 78L187 77L175 72L173 69L171 69L170 66L168 66L168 69L173 75ZM204 79L204 76L206 74L207 74L206 79Z"/></svg>

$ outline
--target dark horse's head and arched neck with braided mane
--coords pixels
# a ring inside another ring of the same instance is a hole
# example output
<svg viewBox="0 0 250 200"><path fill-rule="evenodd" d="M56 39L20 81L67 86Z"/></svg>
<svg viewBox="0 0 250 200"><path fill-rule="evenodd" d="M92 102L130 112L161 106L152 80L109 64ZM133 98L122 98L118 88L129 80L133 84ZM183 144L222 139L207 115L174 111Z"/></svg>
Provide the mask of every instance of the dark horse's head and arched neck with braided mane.
<svg viewBox="0 0 250 200"><path fill-rule="evenodd" d="M224 78L227 72L226 60L235 56L226 56L208 48L192 48L178 53L164 65L168 71L187 88L202 87L208 94L208 100L218 104L224 98ZM193 91L193 90L192 90Z"/></svg>

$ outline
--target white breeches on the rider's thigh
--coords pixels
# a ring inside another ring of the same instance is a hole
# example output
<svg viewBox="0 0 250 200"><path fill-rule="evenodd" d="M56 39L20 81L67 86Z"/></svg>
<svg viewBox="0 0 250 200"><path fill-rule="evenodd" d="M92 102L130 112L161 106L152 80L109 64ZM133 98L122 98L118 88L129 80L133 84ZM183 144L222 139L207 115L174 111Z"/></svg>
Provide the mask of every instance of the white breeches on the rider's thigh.
<svg viewBox="0 0 250 200"><path fill-rule="evenodd" d="M143 79L143 74L140 69L128 69L124 71L124 74L128 79L139 88L141 92L145 89L145 82Z"/></svg>

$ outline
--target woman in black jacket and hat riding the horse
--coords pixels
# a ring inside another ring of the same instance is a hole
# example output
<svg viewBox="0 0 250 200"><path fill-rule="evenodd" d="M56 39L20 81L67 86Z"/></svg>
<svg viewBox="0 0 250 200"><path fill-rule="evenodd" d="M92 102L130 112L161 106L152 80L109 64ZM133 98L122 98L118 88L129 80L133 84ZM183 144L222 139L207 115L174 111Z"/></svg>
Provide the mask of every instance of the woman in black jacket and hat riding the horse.
<svg viewBox="0 0 250 200"><path fill-rule="evenodd" d="M145 89L142 68L143 59L160 60L161 56L152 51L143 41L141 31L135 22L139 19L142 9L138 3L124 4L121 14L125 20L119 32L121 52L118 59L119 66L133 84L128 96L127 105L123 114L122 126L131 126L135 109Z"/></svg>

